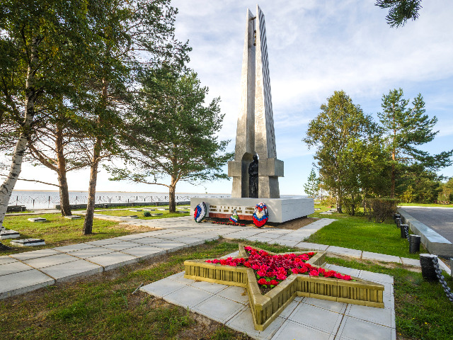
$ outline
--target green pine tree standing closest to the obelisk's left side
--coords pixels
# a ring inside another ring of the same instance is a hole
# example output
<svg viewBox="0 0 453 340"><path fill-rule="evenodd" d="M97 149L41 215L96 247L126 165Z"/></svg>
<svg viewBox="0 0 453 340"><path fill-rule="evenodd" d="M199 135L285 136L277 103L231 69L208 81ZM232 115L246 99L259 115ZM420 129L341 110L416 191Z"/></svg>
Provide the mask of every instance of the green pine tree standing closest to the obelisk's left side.
<svg viewBox="0 0 453 340"><path fill-rule="evenodd" d="M113 180L166 186L171 209L178 181L193 183L226 179L222 166L233 154L229 140L219 140L224 114L219 98L205 105L208 89L195 72L178 72L164 65L142 75L137 106L128 118L123 142L134 149L126 169L109 167ZM168 177L170 177L169 182Z"/></svg>

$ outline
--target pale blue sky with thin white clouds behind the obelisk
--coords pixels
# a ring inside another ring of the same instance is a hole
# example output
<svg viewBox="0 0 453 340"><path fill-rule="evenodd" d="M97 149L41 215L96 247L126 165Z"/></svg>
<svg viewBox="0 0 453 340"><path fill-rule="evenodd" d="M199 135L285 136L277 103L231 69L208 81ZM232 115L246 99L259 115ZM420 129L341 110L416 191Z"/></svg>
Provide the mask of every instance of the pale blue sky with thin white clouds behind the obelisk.
<svg viewBox="0 0 453 340"><path fill-rule="evenodd" d="M401 88L405 98L419 93L426 113L438 119L435 140L420 147L431 154L453 148L453 1L423 1L420 17L402 28L386 24L386 10L363 0L262 0L265 14L277 158L285 162L280 194L304 195L315 149L302 138L333 91L344 90L353 103L377 120L382 96ZM179 9L176 37L189 41L188 67L210 89L207 101L221 98L221 140L234 150L239 112L246 11L243 0L173 0ZM227 167L224 167L227 171ZM453 166L440 171L453 176ZM56 183L52 171L23 165L21 177ZM89 169L69 173L69 190L86 191ZM194 186L178 183L178 193L231 193L232 181ZM18 181L16 190L55 190ZM98 191L166 191L162 186L108 181L98 175Z"/></svg>

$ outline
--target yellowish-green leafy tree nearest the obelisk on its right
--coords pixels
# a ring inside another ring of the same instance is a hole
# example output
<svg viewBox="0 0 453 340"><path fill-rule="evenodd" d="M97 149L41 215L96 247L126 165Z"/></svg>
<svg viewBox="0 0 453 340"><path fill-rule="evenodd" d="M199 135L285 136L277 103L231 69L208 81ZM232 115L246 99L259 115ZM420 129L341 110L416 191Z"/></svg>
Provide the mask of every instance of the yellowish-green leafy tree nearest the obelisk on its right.
<svg viewBox="0 0 453 340"><path fill-rule="evenodd" d="M340 205L347 198L351 215L357 209L358 196L385 187L382 174L386 167L379 137L372 117L352 103L344 91L335 91L309 123L303 141L309 148L317 148L314 158L323 187L336 194Z"/></svg>

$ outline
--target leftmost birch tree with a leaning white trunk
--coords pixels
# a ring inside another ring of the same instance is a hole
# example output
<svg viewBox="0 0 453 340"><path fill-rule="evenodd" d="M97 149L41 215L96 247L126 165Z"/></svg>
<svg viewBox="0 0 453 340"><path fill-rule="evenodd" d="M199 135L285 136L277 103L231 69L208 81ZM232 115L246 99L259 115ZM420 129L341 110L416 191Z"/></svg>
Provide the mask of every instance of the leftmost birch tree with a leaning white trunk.
<svg viewBox="0 0 453 340"><path fill-rule="evenodd" d="M0 13L0 128L15 140L0 186L1 225L35 124L70 86L90 30L84 0L4 1Z"/></svg>

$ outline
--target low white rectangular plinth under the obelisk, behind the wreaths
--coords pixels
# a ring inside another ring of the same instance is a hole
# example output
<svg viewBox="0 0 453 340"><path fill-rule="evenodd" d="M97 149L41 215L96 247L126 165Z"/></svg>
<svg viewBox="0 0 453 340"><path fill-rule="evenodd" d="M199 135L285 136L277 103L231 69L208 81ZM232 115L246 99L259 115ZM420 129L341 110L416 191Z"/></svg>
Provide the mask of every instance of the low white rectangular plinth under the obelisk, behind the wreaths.
<svg viewBox="0 0 453 340"><path fill-rule="evenodd" d="M263 202L268 207L268 222L282 223L314 213L313 198L190 198L190 210L205 202L207 216L229 218L236 209L239 220L252 220L255 206Z"/></svg>

